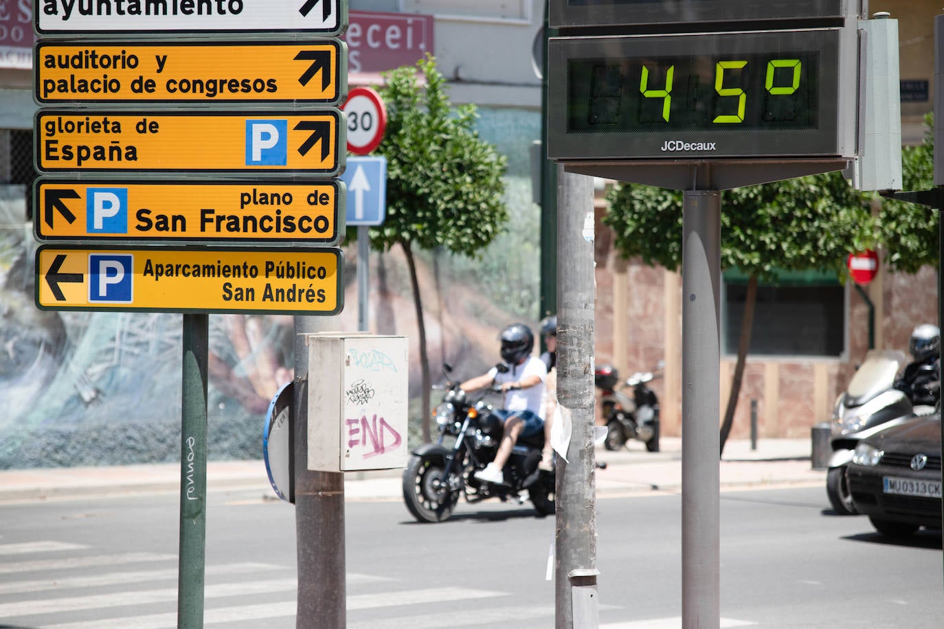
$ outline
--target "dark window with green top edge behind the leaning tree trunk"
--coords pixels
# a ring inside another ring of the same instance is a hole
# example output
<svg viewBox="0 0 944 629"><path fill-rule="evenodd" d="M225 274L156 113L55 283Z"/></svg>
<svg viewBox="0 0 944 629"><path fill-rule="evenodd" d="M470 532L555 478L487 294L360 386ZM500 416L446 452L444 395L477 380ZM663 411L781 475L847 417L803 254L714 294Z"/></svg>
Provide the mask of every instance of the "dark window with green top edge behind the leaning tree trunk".
<svg viewBox="0 0 944 629"><path fill-rule="evenodd" d="M724 352L737 354L748 278L724 273ZM829 273L779 273L757 286L749 354L839 357L846 350L846 290Z"/></svg>

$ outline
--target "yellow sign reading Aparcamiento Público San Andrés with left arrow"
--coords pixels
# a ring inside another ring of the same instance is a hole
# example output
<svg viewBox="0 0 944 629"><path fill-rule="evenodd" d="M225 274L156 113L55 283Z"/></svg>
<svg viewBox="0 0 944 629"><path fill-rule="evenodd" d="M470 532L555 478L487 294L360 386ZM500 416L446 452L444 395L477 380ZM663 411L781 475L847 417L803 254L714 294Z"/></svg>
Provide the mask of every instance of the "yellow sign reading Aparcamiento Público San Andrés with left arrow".
<svg viewBox="0 0 944 629"><path fill-rule="evenodd" d="M43 245L36 252L36 305L333 315L344 308L342 265L338 249Z"/></svg>

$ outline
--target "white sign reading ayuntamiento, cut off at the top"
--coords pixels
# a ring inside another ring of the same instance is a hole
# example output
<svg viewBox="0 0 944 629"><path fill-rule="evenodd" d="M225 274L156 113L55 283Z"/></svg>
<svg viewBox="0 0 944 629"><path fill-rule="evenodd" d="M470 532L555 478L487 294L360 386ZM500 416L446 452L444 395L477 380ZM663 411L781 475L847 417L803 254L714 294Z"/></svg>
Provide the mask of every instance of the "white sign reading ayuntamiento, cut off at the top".
<svg viewBox="0 0 944 629"><path fill-rule="evenodd" d="M344 0L35 0L40 35L312 33L347 26Z"/></svg>

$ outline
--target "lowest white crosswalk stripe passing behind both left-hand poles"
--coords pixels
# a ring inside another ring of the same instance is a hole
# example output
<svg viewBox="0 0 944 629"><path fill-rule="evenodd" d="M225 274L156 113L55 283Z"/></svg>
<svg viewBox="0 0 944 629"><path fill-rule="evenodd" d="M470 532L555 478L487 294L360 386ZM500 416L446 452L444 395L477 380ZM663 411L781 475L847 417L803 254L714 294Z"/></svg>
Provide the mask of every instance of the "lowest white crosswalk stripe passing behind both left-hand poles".
<svg viewBox="0 0 944 629"><path fill-rule="evenodd" d="M441 603L444 601L480 599L496 596L508 596L508 594L505 592L466 588L433 588L417 591L385 592L383 594L358 594L356 596L347 597L347 609L350 611L352 609ZM295 601L216 607L205 610L204 624L219 624L232 621L261 621L291 616L295 616ZM436 629L443 626L442 615L440 615L436 621L438 624L417 626L430 626ZM386 621L384 621L384 624L386 626ZM40 629L174 629L174 627L177 627L176 613L116 618L108 621L67 622L64 624L44 625Z"/></svg>

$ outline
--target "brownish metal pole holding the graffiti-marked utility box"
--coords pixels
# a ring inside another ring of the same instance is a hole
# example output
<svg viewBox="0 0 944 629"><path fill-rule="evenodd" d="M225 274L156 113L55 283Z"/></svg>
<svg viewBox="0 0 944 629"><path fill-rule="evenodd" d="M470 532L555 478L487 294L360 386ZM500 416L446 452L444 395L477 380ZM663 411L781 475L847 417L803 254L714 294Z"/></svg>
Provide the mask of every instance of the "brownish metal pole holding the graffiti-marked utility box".
<svg viewBox="0 0 944 629"><path fill-rule="evenodd" d="M312 316L295 316L297 629L346 626L345 475L308 469L308 345Z"/></svg>

